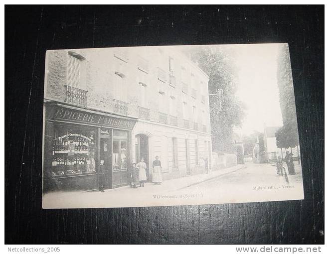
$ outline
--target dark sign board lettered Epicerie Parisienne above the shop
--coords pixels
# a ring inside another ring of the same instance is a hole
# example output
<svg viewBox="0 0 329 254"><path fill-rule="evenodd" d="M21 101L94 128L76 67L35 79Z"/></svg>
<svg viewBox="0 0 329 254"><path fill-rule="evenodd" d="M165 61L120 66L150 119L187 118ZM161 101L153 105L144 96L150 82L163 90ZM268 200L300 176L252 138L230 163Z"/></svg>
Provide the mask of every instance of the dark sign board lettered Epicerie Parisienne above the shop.
<svg viewBox="0 0 329 254"><path fill-rule="evenodd" d="M92 124L101 127L122 128L127 130L132 130L136 124L136 120L123 119L114 116L105 116L63 107L56 108L54 111L53 119L66 120L81 124Z"/></svg>

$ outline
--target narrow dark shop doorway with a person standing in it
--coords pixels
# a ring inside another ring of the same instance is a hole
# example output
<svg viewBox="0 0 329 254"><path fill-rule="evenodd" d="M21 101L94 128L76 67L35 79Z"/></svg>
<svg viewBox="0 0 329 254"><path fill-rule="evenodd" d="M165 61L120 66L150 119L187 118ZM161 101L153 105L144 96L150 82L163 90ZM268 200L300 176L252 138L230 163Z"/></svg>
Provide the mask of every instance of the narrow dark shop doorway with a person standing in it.
<svg viewBox="0 0 329 254"><path fill-rule="evenodd" d="M99 160L100 160L100 172L99 172L99 185L103 189L112 188L112 142L110 138L102 138Z"/></svg>

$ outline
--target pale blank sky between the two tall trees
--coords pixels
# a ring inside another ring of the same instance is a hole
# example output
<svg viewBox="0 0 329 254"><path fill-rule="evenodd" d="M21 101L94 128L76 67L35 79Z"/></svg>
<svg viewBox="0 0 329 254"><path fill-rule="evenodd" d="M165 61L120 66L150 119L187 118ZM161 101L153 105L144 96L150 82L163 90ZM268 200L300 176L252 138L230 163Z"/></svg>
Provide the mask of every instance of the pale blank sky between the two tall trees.
<svg viewBox="0 0 329 254"><path fill-rule="evenodd" d="M263 132L266 126L282 126L277 85L278 44L233 47L238 66L237 97L245 104L242 134Z"/></svg>

